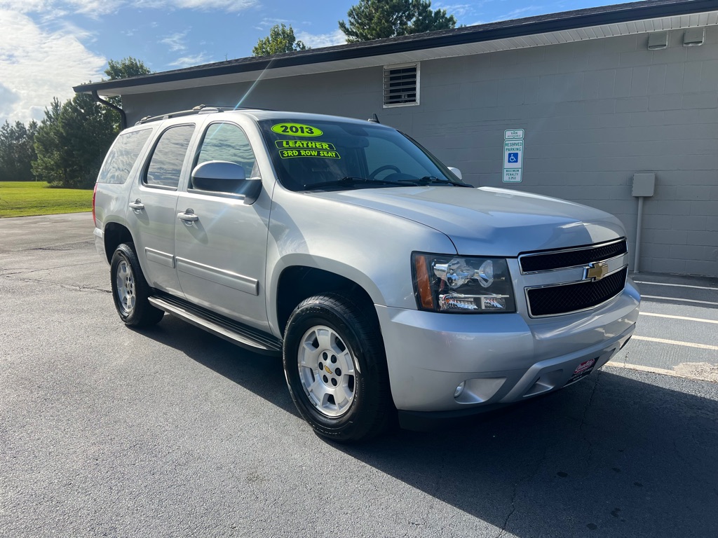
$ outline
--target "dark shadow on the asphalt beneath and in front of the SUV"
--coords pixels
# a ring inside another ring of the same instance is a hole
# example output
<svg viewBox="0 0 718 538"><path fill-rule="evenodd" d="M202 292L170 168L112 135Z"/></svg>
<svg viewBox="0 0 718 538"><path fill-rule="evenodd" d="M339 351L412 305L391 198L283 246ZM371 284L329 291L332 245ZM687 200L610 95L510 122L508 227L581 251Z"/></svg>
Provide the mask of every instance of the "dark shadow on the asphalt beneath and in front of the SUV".
<svg viewBox="0 0 718 538"><path fill-rule="evenodd" d="M280 359L169 316L142 332L298 417ZM718 402L701 393L716 392L607 368L458 427L327 444L518 537L707 537L718 528ZM408 525L437 525L426 504L412 510Z"/></svg>

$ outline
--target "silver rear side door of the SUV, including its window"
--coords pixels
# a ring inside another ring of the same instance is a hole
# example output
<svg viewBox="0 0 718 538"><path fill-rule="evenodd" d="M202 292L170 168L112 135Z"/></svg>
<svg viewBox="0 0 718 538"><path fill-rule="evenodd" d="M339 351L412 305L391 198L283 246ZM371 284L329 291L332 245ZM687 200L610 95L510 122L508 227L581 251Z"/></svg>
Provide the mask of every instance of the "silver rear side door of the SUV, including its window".
<svg viewBox="0 0 718 538"><path fill-rule="evenodd" d="M139 180L133 185L127 212L128 227L149 285L182 296L174 263L177 189L191 161L195 123L169 126L151 150Z"/></svg>

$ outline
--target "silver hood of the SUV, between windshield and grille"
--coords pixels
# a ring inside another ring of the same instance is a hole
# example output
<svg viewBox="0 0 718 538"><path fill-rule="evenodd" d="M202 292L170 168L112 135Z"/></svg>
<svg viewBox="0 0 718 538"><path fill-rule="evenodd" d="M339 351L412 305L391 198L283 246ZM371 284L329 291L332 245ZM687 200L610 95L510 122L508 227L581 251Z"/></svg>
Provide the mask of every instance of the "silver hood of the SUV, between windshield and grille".
<svg viewBox="0 0 718 538"><path fill-rule="evenodd" d="M460 255L514 257L625 235L620 221L599 209L508 189L402 187L312 196L420 222L446 234Z"/></svg>

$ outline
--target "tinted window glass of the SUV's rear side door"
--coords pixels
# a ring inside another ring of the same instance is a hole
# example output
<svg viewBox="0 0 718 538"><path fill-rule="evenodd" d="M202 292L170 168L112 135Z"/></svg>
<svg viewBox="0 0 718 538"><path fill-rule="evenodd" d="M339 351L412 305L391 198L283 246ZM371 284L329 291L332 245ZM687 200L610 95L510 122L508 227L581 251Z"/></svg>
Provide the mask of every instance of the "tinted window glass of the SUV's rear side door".
<svg viewBox="0 0 718 538"><path fill-rule="evenodd" d="M195 126L182 125L170 127L154 147L152 159L149 161L144 183L162 187L177 187L180 183L182 164L185 162L190 138Z"/></svg>

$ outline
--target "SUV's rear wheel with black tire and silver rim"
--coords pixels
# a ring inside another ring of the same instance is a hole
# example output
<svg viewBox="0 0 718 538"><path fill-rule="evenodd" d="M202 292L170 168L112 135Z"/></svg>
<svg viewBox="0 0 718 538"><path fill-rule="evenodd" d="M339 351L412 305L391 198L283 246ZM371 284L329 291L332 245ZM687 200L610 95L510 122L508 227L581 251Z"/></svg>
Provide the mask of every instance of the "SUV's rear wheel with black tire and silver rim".
<svg viewBox="0 0 718 538"><path fill-rule="evenodd" d="M124 324L131 327L149 327L159 323L164 311L147 301L150 288L132 243L122 243L112 255L110 280L115 308Z"/></svg>

